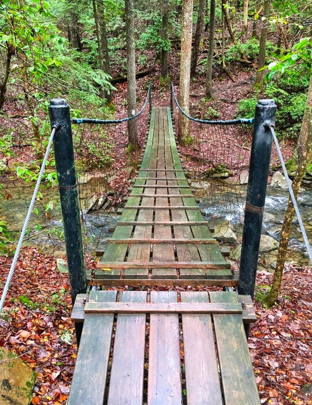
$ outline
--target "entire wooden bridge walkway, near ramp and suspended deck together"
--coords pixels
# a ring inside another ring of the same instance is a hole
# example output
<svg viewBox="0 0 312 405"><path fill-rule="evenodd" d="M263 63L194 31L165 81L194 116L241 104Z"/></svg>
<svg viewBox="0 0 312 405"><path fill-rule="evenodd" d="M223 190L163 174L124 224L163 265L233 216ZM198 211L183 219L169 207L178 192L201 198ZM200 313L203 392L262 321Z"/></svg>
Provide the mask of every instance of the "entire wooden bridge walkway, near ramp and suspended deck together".
<svg viewBox="0 0 312 405"><path fill-rule="evenodd" d="M90 284L227 285L237 275L202 217L179 160L169 108L153 108L137 179ZM236 292L91 291L68 405L259 405Z"/></svg>

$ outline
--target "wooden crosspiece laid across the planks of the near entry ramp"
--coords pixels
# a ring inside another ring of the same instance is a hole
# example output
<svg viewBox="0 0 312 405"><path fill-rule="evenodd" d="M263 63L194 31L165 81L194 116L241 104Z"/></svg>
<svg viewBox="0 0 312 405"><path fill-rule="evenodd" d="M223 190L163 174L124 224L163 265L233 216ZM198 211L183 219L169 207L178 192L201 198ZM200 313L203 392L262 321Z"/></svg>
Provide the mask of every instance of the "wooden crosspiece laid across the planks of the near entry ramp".
<svg viewBox="0 0 312 405"><path fill-rule="evenodd" d="M242 314L243 310L239 302L211 303L199 301L151 303L145 302L145 300L130 300L109 303L86 302L84 312L86 314Z"/></svg>

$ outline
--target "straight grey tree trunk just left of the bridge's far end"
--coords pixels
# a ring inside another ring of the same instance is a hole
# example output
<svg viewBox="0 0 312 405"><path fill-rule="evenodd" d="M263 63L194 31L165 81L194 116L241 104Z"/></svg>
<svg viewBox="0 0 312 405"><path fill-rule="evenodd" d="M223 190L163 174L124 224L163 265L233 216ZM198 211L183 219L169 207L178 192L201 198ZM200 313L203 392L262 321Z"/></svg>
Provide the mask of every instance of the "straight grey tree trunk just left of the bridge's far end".
<svg viewBox="0 0 312 405"><path fill-rule="evenodd" d="M135 115L137 109L136 54L133 0L125 0L126 43L127 43L127 102L128 116ZM138 149L137 120L128 121L129 146Z"/></svg>

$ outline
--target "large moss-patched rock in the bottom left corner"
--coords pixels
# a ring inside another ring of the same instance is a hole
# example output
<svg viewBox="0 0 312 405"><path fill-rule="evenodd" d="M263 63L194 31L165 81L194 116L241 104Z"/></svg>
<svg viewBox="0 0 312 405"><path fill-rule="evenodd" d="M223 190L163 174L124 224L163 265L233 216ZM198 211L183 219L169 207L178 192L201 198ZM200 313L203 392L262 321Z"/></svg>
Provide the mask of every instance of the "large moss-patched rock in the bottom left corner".
<svg viewBox="0 0 312 405"><path fill-rule="evenodd" d="M0 348L0 404L29 405L37 373L16 353Z"/></svg>

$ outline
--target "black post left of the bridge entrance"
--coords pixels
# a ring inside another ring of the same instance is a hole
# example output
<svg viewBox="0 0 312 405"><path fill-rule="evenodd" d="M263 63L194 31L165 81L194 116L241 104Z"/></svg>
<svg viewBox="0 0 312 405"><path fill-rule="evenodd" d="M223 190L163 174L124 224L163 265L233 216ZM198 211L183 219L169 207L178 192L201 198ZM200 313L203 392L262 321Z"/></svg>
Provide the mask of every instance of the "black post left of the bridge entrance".
<svg viewBox="0 0 312 405"><path fill-rule="evenodd" d="M52 99L49 106L51 127L59 127L54 136L54 155L59 181L59 196L63 216L69 282L72 302L77 294L87 291L84 263L77 175L75 168L72 127L69 106L64 99ZM79 343L82 324L76 323L76 337Z"/></svg>

